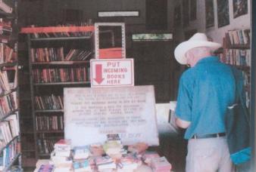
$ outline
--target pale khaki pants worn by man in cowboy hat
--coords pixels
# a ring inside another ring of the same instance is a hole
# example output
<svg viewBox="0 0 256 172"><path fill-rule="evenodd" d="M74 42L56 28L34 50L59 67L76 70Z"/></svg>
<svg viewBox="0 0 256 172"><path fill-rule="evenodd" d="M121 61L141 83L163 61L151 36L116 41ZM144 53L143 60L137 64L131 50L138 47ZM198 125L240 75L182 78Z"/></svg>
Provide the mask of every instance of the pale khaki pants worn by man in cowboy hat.
<svg viewBox="0 0 256 172"><path fill-rule="evenodd" d="M233 172L226 137L191 139L186 156L186 172Z"/></svg>

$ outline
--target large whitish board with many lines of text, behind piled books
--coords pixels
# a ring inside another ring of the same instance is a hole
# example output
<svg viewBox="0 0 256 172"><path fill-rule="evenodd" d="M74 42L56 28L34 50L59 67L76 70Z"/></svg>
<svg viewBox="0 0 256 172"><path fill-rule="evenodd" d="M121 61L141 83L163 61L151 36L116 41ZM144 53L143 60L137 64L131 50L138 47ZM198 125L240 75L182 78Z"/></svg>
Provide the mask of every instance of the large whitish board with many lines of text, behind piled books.
<svg viewBox="0 0 256 172"><path fill-rule="evenodd" d="M64 126L73 146L103 144L107 134L158 146L154 86L64 88Z"/></svg>

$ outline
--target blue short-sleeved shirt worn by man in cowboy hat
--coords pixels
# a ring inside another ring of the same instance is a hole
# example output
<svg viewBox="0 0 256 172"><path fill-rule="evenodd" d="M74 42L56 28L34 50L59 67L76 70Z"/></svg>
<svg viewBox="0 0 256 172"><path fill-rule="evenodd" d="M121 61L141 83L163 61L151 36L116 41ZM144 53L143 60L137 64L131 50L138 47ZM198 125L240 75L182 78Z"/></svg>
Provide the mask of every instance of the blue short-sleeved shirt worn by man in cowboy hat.
<svg viewBox="0 0 256 172"><path fill-rule="evenodd" d="M183 72L175 113L177 118L191 122L185 139L225 132L224 114L234 99L232 69L217 57L205 57Z"/></svg>

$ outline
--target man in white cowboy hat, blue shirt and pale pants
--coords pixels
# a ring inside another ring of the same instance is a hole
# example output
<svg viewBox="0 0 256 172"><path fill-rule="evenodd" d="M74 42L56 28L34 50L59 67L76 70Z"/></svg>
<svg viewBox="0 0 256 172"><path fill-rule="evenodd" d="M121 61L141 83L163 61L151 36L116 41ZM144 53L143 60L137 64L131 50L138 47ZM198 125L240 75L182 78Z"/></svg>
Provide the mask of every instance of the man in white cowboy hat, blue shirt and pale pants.
<svg viewBox="0 0 256 172"><path fill-rule="evenodd" d="M176 60L191 66L180 78L176 124L189 140L186 171L233 171L225 137L224 114L234 103L235 79L229 66L212 52L220 44L196 33L174 51Z"/></svg>

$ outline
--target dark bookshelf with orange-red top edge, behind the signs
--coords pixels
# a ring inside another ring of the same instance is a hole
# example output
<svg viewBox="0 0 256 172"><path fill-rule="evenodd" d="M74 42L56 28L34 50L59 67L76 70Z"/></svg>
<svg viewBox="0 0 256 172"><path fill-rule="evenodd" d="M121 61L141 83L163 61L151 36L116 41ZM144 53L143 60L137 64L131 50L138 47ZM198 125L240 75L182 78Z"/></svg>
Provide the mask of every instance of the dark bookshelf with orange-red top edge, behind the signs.
<svg viewBox="0 0 256 172"><path fill-rule="evenodd" d="M64 137L64 88L90 86L94 26L27 27L21 32L27 34L33 128L23 133L33 135L33 147L23 153L49 158L54 143Z"/></svg>

